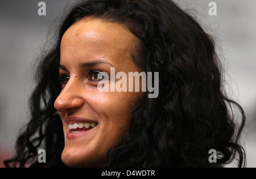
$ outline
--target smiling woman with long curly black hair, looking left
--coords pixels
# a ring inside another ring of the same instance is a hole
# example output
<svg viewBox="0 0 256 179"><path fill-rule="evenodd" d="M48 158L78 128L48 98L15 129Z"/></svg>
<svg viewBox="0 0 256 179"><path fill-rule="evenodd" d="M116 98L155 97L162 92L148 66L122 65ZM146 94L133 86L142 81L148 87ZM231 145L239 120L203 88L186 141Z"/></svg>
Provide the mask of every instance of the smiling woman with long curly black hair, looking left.
<svg viewBox="0 0 256 179"><path fill-rule="evenodd" d="M158 97L100 92L101 80L115 81L99 77L111 68L158 72ZM223 167L237 155L245 165L245 114L225 95L214 41L170 0L82 1L36 76L31 120L7 167Z"/></svg>

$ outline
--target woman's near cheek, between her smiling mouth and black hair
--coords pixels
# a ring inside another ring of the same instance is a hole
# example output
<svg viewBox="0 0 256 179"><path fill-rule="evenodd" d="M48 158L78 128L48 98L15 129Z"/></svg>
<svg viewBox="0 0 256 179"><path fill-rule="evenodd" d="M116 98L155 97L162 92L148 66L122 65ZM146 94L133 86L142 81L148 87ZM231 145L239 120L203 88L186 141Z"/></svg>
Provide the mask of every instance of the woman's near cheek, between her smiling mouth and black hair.
<svg viewBox="0 0 256 179"><path fill-rule="evenodd" d="M137 97L138 93L134 92L97 92L90 96L90 106L100 116L102 129L108 129L104 135L117 137L120 129L129 128L129 116Z"/></svg>

